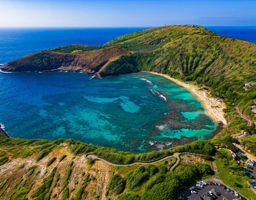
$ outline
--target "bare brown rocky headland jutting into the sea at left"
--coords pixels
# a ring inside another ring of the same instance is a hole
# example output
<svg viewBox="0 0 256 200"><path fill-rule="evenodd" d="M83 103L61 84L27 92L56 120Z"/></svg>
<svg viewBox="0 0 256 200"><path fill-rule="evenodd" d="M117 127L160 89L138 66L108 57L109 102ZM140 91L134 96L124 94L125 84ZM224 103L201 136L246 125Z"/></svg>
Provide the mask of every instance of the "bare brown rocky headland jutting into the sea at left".
<svg viewBox="0 0 256 200"><path fill-rule="evenodd" d="M23 71L77 71L97 73L118 56L128 53L119 46L78 54L43 51L12 61L1 67L4 72Z"/></svg>

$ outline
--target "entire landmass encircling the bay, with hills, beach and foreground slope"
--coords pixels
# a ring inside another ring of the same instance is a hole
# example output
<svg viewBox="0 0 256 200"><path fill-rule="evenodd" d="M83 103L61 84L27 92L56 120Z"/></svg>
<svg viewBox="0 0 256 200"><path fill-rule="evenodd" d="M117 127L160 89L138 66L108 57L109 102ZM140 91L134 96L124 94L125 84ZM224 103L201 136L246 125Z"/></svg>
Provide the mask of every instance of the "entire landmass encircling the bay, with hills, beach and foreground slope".
<svg viewBox="0 0 256 200"><path fill-rule="evenodd" d="M192 199L193 191L208 193L211 186L206 185L215 185L212 194L221 188L231 196L235 190L256 199L251 181L251 160L256 161L255 55L254 43L197 25L171 25L123 35L102 46L54 48L1 66L3 72L74 71L95 74L93 78L155 73L192 91L224 126L209 140L140 154L73 139L10 138L1 127L0 197Z"/></svg>

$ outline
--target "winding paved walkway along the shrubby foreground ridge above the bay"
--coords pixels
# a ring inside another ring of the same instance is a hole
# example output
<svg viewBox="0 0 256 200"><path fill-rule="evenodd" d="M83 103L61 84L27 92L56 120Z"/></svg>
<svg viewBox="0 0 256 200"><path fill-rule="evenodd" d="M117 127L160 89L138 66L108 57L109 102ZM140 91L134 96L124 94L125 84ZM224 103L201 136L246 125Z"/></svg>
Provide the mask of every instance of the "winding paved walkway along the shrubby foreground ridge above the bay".
<svg viewBox="0 0 256 200"><path fill-rule="evenodd" d="M197 153L192 153L192 152L175 152L173 153L173 155L167 155L163 158L160 158L158 160L154 160L154 161L149 161L149 162L139 162L139 161L136 161L136 162L132 162L132 163L129 163L129 164L118 164L118 163L111 163L109 161L107 161L106 159L104 158L101 158L99 156L97 156L96 154L86 154L85 157L88 158L88 159L92 159L92 160L95 160L95 159L98 159L108 165L113 165L113 166L131 166L131 165L136 165L136 164L140 164L140 165L150 165L150 164L156 164L156 163L159 163L163 160L166 160L167 158L171 158L171 157L175 157L177 158L176 162L170 167L170 171L172 171L179 163L180 163L180 154L194 154L194 155L204 155L204 154L197 154Z"/></svg>

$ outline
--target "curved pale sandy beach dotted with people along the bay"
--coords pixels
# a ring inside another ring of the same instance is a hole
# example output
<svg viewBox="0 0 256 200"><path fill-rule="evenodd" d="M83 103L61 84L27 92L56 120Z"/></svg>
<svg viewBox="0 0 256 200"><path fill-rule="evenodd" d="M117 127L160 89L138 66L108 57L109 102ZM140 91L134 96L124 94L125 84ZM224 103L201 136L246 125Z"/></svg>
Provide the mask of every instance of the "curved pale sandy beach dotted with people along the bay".
<svg viewBox="0 0 256 200"><path fill-rule="evenodd" d="M221 101L217 101L217 98L207 97L206 90L199 90L199 88L195 85L181 82L165 74L160 74L157 72L149 72L149 73L163 76L175 82L176 84L183 86L184 88L192 92L195 96L197 96L201 100L204 107L206 108L206 115L209 115L212 118L214 118L216 121L222 122L224 125L227 125L227 121L224 118L224 112L222 111L222 109L225 108L226 105Z"/></svg>

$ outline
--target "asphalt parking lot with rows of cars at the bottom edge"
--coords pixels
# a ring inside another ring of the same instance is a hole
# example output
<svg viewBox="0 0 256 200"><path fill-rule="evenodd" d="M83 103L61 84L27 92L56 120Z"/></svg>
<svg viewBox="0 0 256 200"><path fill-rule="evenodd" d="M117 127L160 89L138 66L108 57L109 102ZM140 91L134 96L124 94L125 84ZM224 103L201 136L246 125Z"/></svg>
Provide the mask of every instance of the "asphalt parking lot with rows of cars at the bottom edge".
<svg viewBox="0 0 256 200"><path fill-rule="evenodd" d="M221 186L218 185L207 185L204 188L201 188L197 190L197 194L192 194L188 199L189 200L199 200L200 196L206 195L209 192L209 190L214 189L217 195L218 200L232 200L232 199L239 199L234 194L229 192L227 189L224 189Z"/></svg>

